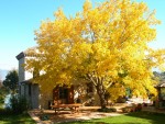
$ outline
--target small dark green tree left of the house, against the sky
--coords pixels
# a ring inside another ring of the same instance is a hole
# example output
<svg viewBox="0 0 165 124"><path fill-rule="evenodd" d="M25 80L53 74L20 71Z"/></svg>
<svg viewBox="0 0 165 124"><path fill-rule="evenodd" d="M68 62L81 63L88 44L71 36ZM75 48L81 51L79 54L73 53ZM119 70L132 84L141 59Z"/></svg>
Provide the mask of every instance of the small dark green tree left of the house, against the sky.
<svg viewBox="0 0 165 124"><path fill-rule="evenodd" d="M6 76L6 79L3 80L3 86L7 87L9 90L11 90L13 93L15 93L18 89L18 82L19 82L18 71L11 70Z"/></svg>

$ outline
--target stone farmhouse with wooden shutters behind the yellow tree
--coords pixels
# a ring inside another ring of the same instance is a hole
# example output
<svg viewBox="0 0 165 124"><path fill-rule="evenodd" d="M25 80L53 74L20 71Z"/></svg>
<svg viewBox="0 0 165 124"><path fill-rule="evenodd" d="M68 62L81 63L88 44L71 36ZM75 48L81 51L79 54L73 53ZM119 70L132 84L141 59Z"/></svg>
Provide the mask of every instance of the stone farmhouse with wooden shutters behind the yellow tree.
<svg viewBox="0 0 165 124"><path fill-rule="evenodd" d="M31 48L31 50L33 49L34 48ZM26 60L31 57L34 56L32 56L29 50L22 52L16 56L19 60L19 94L28 99L31 109L48 109L54 100L61 100L66 104L76 102L81 102L84 105L100 104L95 87L89 82L86 82L86 84L81 83L85 80L77 80L73 82L72 87L52 86L51 90L43 93L40 90L41 84L33 82L33 78L36 74L29 72L24 68Z"/></svg>

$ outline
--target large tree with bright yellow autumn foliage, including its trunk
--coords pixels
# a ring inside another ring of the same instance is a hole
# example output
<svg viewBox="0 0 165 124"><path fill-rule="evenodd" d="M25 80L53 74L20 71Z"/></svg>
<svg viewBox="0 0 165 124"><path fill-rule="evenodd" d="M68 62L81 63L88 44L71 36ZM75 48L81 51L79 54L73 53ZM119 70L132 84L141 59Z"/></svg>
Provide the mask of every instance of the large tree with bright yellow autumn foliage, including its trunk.
<svg viewBox="0 0 165 124"><path fill-rule="evenodd" d="M130 88L135 95L154 93L152 68L163 64L164 50L147 46L155 40L155 11L144 2L108 0L92 7L86 1L82 12L67 18L63 10L35 32L37 56L26 68L42 70L35 80L45 90L57 84L70 86L84 78L94 83L106 108L106 92L112 99Z"/></svg>

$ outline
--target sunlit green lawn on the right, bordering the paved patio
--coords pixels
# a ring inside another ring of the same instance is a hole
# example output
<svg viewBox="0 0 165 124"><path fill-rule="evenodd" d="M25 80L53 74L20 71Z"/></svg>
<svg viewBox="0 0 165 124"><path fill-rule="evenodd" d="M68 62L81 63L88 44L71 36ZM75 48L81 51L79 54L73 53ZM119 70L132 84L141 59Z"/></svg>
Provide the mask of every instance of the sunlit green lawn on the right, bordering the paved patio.
<svg viewBox="0 0 165 124"><path fill-rule="evenodd" d="M148 114L146 112L136 112L121 116L72 122L67 124L165 124L165 114Z"/></svg>

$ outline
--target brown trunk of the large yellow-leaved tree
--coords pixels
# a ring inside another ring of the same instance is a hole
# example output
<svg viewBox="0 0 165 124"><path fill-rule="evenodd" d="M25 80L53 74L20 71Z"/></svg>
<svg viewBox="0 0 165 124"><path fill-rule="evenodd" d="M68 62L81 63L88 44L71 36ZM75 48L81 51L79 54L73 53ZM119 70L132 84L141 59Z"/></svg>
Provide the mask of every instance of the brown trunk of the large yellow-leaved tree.
<svg viewBox="0 0 165 124"><path fill-rule="evenodd" d="M105 98L105 88L101 83L98 83L96 86L96 89L97 89L97 93L99 95L99 99L100 99L100 104L101 104L101 109L106 109L106 98Z"/></svg>

